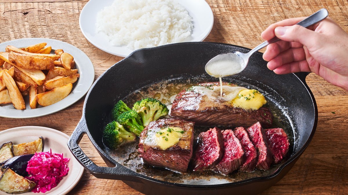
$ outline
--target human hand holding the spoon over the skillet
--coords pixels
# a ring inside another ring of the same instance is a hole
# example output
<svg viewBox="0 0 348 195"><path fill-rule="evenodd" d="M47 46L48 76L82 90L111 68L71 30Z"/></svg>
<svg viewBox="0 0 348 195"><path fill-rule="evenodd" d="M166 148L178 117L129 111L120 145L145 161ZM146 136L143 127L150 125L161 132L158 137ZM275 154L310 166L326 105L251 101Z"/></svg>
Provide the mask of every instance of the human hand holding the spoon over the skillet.
<svg viewBox="0 0 348 195"><path fill-rule="evenodd" d="M285 19L261 33L264 40L281 39L267 46L267 67L276 74L313 72L348 91L348 34L329 17L308 29L294 25L303 19Z"/></svg>

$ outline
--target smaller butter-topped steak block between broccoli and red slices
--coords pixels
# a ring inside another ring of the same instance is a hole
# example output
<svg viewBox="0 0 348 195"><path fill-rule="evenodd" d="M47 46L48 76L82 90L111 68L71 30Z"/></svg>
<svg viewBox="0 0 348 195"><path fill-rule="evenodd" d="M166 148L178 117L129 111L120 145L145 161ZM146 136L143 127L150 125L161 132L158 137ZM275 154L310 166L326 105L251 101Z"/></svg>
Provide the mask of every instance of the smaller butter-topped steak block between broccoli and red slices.
<svg viewBox="0 0 348 195"><path fill-rule="evenodd" d="M186 172L193 152L194 124L174 118L150 122L140 135L140 157L152 166Z"/></svg>

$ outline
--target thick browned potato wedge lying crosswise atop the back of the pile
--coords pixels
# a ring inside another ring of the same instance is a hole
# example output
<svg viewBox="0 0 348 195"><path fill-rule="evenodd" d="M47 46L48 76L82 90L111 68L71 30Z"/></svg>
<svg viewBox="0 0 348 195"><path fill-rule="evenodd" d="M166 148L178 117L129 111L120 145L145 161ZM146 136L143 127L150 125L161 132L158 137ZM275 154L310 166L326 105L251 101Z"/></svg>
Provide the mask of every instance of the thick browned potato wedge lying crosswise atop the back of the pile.
<svg viewBox="0 0 348 195"><path fill-rule="evenodd" d="M52 59L47 57L30 56L22 53L9 52L8 59L16 66L35 69L35 70L49 70L54 67Z"/></svg>

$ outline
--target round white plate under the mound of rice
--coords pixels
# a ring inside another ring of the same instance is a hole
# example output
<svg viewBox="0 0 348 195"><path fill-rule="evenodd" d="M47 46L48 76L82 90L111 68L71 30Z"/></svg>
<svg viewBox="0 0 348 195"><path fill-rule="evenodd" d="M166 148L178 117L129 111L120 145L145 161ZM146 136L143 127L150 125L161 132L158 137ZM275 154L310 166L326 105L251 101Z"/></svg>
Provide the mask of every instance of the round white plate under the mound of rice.
<svg viewBox="0 0 348 195"><path fill-rule="evenodd" d="M212 9L205 0L176 0L184 6L189 15L193 18L193 31L187 42L203 41L214 23ZM113 0L89 0L80 14L80 29L86 39L97 48L114 54L116 56L126 57L134 50L126 46L113 46L105 33L96 32L97 13L106 6L112 5Z"/></svg>

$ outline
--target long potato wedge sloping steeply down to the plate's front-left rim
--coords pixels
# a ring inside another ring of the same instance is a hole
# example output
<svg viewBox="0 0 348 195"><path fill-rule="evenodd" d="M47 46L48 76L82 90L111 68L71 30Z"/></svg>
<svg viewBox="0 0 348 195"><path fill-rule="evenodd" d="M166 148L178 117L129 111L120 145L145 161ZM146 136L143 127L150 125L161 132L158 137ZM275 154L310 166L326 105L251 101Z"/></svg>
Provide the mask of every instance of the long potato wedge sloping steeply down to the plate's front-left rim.
<svg viewBox="0 0 348 195"><path fill-rule="evenodd" d="M10 95L13 106L18 110L24 110L25 102L21 92L19 91L15 83L15 80L13 80L13 78L6 71L3 71L2 78L7 87L8 94Z"/></svg>

